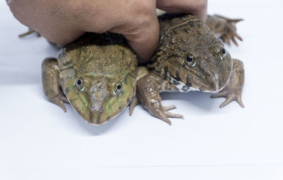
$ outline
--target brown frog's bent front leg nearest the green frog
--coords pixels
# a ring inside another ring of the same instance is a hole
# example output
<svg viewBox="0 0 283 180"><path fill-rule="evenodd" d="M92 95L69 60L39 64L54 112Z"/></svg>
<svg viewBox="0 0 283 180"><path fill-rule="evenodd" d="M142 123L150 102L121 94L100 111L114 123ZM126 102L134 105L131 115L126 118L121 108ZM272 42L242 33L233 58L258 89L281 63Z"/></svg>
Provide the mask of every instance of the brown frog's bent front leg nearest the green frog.
<svg viewBox="0 0 283 180"><path fill-rule="evenodd" d="M161 96L162 91L176 91L176 87L167 79L159 77L158 74L150 72L145 77L137 81L137 97L141 104L157 118L161 118L166 123L171 125L171 120L168 118L183 118L180 114L170 113L169 111L175 108L172 106L162 106Z"/></svg>

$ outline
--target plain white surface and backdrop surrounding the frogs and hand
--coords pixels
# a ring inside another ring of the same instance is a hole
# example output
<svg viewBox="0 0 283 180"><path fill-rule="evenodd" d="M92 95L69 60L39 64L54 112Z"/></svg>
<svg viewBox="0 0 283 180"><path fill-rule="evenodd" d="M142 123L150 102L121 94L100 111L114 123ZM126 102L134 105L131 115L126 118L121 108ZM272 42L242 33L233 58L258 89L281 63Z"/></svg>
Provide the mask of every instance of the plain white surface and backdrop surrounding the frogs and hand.
<svg viewBox="0 0 283 180"><path fill-rule="evenodd" d="M163 94L185 120L172 125L138 106L105 125L83 122L42 93L41 62L57 50L0 2L0 179L283 179L283 1L209 1L209 13L244 18L243 102Z"/></svg>

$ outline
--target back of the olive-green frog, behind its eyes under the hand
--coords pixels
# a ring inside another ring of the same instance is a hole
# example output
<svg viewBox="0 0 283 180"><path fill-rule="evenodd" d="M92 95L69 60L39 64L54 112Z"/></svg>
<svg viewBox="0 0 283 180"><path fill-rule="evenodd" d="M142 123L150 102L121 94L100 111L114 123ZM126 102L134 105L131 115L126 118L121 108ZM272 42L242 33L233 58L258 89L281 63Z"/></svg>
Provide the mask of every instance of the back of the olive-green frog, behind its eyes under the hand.
<svg viewBox="0 0 283 180"><path fill-rule="evenodd" d="M125 79L137 68L137 55L125 38L114 33L86 33L59 52L60 71L73 67L76 74Z"/></svg>

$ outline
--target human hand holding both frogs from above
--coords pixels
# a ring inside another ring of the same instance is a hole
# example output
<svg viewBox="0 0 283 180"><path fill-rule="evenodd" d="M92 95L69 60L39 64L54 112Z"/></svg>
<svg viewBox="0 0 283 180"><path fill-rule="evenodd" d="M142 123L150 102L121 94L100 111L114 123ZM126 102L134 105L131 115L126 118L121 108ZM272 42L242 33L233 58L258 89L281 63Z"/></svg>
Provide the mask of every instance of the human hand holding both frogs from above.
<svg viewBox="0 0 283 180"><path fill-rule="evenodd" d="M18 21L57 45L85 32L120 33L139 62L149 61L159 40L156 8L207 18L207 0L6 0Z"/></svg>

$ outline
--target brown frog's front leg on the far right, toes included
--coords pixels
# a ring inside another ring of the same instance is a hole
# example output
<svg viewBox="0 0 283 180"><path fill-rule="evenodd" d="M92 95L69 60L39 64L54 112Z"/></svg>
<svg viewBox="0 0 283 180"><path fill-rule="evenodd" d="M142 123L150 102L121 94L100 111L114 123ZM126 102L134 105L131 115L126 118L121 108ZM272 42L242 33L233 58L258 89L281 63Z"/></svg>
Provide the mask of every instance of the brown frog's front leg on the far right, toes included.
<svg viewBox="0 0 283 180"><path fill-rule="evenodd" d="M240 60L233 59L233 72L231 74L229 84L227 84L224 87L224 89L222 89L219 93L213 94L211 97L226 98L226 101L221 103L220 108L231 103L231 101L237 101L240 104L240 106L243 108L244 106L241 99L243 81L244 81L243 62L241 62Z"/></svg>

